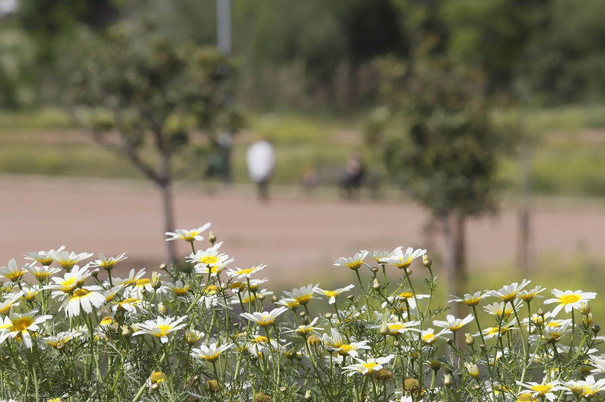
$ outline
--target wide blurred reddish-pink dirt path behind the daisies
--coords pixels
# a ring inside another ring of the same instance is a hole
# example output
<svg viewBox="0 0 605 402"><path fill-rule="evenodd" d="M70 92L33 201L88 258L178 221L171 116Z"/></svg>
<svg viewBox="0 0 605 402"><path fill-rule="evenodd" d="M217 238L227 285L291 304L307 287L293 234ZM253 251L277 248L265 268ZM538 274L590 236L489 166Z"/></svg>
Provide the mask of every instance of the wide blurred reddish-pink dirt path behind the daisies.
<svg viewBox="0 0 605 402"><path fill-rule="evenodd" d="M329 273L332 259L360 248L414 245L440 250L440 237L423 235L427 215L414 204L341 203L278 198L257 203L249 195L178 192L178 227L212 222L235 265L265 262L267 277L307 282ZM160 199L146 186L123 181L0 178L0 264L31 250L64 244L68 250L116 254L152 268L165 255ZM468 258L480 267L514 261L514 210L468 225ZM605 258L605 207L540 207L534 214L537 254L581 247ZM188 244L181 242L185 254Z"/></svg>

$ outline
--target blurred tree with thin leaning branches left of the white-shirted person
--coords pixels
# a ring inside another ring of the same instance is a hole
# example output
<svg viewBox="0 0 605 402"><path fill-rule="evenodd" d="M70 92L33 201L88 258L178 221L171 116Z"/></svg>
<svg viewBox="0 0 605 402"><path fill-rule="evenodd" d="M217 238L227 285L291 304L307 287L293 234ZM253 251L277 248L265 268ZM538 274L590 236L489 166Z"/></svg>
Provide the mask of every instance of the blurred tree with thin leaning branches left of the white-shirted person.
<svg viewBox="0 0 605 402"><path fill-rule="evenodd" d="M241 120L229 102L229 60L212 48L174 45L149 28L79 41L67 105L97 143L128 158L162 192L166 231L173 231L174 160L194 137L217 143ZM189 169L195 161L185 163ZM168 242L175 261L174 242Z"/></svg>

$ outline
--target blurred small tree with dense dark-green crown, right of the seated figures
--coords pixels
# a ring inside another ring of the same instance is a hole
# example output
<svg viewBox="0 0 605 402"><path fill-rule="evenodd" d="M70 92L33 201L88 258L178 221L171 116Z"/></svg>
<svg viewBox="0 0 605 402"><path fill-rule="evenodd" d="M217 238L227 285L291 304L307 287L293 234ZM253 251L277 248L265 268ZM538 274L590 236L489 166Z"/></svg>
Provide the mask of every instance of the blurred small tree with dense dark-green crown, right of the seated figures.
<svg viewBox="0 0 605 402"><path fill-rule="evenodd" d="M495 209L505 149L488 118L485 80L440 57L419 60L412 71L396 60L382 66L385 97L405 127L384 142L387 171L440 222L449 290L463 294L466 218Z"/></svg>

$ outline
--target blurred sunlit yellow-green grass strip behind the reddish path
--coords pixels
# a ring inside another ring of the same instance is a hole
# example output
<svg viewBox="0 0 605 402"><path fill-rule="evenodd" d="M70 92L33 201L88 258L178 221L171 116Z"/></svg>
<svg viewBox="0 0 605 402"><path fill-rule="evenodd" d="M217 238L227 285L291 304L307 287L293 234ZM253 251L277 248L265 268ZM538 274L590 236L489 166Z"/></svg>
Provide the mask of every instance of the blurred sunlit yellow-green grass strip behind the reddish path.
<svg viewBox="0 0 605 402"><path fill-rule="evenodd" d="M523 111L497 111L495 120L522 119L534 144L534 189L541 195L605 195L605 106L567 106ZM309 169L318 170L323 185L337 183L348 155L360 152L368 168L382 170L375 150L364 146L365 115L342 117L282 112L249 117L246 131L235 140L234 179L247 183L245 153L248 144L269 138L276 148L274 181L299 184ZM514 133L511 133L511 135ZM0 112L0 172L108 178L141 178L128 161L94 144L76 132L60 109ZM151 157L152 152L146 152ZM185 180L201 180L198 161L177 165ZM509 192L520 189L520 163L511 154L500 176ZM388 184L385 184L388 187Z"/></svg>

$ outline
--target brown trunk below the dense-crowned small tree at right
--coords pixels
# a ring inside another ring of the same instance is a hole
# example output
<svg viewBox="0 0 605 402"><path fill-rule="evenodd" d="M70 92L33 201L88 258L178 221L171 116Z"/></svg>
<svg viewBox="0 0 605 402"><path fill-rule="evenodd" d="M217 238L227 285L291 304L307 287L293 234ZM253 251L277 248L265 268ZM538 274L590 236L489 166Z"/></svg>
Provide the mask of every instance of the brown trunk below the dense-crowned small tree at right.
<svg viewBox="0 0 605 402"><path fill-rule="evenodd" d="M454 296L468 293L466 291L465 220L464 215L456 212L450 212L442 218L448 292ZM466 316L463 303L453 303L452 310L457 318ZM464 342L462 334L458 334L456 338L458 346L462 345Z"/></svg>

